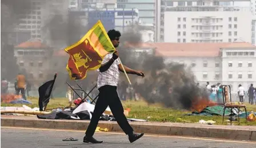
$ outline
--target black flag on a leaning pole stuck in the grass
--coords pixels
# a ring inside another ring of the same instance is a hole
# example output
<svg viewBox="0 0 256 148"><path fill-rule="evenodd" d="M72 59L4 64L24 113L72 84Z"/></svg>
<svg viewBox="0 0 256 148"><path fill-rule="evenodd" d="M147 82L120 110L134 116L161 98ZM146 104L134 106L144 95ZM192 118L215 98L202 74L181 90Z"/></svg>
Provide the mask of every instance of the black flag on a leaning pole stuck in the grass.
<svg viewBox="0 0 256 148"><path fill-rule="evenodd" d="M53 85L56 77L57 77L57 73L55 73L53 80L47 81L45 84L41 85L41 87L38 88L38 93L39 93L38 105L39 105L40 111L44 111L46 108L46 105L49 103L51 91L53 91Z"/></svg>

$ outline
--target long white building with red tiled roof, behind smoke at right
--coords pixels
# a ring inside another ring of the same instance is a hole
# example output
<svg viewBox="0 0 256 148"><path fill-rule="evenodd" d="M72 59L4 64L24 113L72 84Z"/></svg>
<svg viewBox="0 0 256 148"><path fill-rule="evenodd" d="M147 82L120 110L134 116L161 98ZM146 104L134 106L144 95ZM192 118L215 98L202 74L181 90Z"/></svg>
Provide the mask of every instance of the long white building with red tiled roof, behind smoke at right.
<svg viewBox="0 0 256 148"><path fill-rule="evenodd" d="M231 84L233 91L242 84L247 89L256 84L256 47L246 42L234 43L141 43L126 44L135 52L143 51L191 66L199 83Z"/></svg>

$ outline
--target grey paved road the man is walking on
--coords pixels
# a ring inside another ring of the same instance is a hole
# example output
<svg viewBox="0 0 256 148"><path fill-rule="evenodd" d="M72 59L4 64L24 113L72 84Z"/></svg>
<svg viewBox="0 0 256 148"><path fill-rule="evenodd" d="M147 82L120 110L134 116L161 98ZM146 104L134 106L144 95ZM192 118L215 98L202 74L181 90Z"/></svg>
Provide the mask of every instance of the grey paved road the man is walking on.
<svg viewBox="0 0 256 148"><path fill-rule="evenodd" d="M158 148L158 147L190 147L190 148L219 148L219 147L256 147L254 142L225 141L217 139L202 139L189 137L169 137L145 135L134 143L129 143L125 134L96 133L95 138L102 139L101 144L83 143L83 131L42 130L26 128L1 127L1 147L5 148L82 148L82 147L125 147L125 148ZM78 141L63 142L65 138L78 138Z"/></svg>

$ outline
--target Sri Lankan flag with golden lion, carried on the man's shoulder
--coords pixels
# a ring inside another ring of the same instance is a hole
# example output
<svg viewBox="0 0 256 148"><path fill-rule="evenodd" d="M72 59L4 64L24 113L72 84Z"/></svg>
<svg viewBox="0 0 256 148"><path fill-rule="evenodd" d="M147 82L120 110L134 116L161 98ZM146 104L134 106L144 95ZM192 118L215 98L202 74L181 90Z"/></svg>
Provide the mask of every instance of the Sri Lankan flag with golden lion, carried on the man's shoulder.
<svg viewBox="0 0 256 148"><path fill-rule="evenodd" d="M115 48L101 20L98 20L81 40L65 51L69 54L67 72L71 79L78 80L84 79L87 71L101 67L104 56L114 52Z"/></svg>

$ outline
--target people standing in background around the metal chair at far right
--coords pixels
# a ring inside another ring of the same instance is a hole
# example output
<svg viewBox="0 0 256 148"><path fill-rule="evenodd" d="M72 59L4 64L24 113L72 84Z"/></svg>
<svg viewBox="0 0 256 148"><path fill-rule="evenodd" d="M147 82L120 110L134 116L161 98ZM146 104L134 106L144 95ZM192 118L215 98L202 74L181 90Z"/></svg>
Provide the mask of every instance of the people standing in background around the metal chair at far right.
<svg viewBox="0 0 256 148"><path fill-rule="evenodd" d="M223 102L221 83L218 83L216 85L210 85L209 82L207 82L206 89L210 94L211 101L219 103ZM251 105L256 105L256 87L254 87L253 84L250 85L248 91L246 91L241 84L238 85L237 97L239 98L239 102L245 102L246 95L249 98L249 103Z"/></svg>

